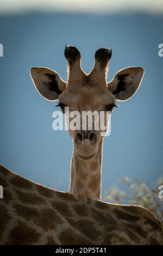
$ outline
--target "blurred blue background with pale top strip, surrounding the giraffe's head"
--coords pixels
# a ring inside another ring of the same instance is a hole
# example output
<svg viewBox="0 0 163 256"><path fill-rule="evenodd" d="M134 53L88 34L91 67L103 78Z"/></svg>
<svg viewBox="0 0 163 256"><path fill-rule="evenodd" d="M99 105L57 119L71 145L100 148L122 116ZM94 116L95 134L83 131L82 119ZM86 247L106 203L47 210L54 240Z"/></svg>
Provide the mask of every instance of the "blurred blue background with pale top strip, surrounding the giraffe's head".
<svg viewBox="0 0 163 256"><path fill-rule="evenodd" d="M78 47L85 72L98 48L111 47L108 81L127 66L143 66L145 76L136 95L117 102L112 114L111 135L104 139L102 198L122 176L133 180L130 185L136 178L154 186L163 175L162 31L162 0L1 0L1 164L68 191L72 141L66 131L52 130L57 102L36 92L29 70L47 66L66 80L65 44Z"/></svg>

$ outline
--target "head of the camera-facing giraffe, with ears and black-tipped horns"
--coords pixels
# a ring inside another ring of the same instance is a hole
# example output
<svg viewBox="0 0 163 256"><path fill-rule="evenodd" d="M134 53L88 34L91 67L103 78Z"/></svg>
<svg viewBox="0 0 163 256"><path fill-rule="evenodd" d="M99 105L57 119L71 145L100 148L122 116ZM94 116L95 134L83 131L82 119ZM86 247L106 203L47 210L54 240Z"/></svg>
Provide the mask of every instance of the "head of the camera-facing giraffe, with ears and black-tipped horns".
<svg viewBox="0 0 163 256"><path fill-rule="evenodd" d="M144 70L141 67L129 67L117 72L111 82L106 82L108 63L111 58L110 48L100 48L95 53L95 65L89 74L81 67L80 52L74 46L65 47L65 57L68 62L68 80L64 82L57 72L33 67L30 70L32 80L38 92L50 101L59 100L59 106L64 112L65 107L72 111L112 112L115 100L130 99L139 88ZM107 115L104 114L105 123ZM100 122L100 118L98 119ZM96 155L99 143L102 141L101 130L95 130L95 118L92 129L86 126L82 129L82 119L78 129L68 132L73 139L74 151L82 159L89 160ZM99 125L99 127L101 127Z"/></svg>

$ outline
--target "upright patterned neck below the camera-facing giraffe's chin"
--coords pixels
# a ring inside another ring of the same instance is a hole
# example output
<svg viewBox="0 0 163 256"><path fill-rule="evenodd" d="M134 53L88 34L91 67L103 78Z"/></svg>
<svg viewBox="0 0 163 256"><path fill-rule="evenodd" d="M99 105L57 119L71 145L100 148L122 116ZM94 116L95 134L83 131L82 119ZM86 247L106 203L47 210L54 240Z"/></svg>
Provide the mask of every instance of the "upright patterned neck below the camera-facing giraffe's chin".
<svg viewBox="0 0 163 256"><path fill-rule="evenodd" d="M102 148L103 139L99 142L96 155L87 161L81 159L81 157L73 151L70 193L101 200Z"/></svg>

